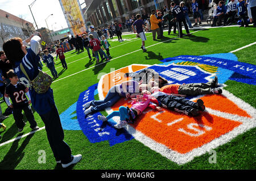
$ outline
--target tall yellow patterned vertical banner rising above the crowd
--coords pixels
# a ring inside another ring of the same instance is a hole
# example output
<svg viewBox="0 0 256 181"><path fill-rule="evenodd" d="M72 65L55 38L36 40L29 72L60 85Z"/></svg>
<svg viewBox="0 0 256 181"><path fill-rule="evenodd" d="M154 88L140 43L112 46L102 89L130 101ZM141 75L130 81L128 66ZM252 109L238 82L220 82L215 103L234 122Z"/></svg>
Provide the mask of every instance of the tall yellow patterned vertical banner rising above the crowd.
<svg viewBox="0 0 256 181"><path fill-rule="evenodd" d="M59 0L71 35L79 35L86 31L84 16L79 0Z"/></svg>

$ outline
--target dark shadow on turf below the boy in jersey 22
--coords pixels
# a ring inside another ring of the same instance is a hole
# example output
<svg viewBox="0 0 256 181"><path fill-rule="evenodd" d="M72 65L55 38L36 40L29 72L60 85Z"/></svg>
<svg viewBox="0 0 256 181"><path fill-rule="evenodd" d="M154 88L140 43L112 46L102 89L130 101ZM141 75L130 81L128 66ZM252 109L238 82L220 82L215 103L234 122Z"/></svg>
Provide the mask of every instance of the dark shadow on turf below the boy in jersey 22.
<svg viewBox="0 0 256 181"><path fill-rule="evenodd" d="M19 134L18 136L21 136L21 135L22 134ZM10 150L5 155L3 160L0 162L1 170L14 170L16 168L19 162L22 161L24 157L24 149L26 148L28 142L30 142L30 139L32 138L32 136L34 136L34 133L28 135L20 146L19 146L20 139L15 140L13 142L13 145L11 145Z"/></svg>

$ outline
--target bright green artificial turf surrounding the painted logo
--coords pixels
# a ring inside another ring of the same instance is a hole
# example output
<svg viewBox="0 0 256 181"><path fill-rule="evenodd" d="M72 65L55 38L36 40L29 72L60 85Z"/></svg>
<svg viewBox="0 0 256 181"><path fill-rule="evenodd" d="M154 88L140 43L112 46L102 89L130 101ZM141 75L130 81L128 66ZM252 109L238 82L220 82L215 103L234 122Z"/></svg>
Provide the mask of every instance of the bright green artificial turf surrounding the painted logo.
<svg viewBox="0 0 256 181"><path fill-rule="evenodd" d="M244 29L238 27L212 28L192 32L191 36L185 36L183 39L177 38L177 35L174 34L168 36L167 32L164 32L166 37L158 41L152 41L152 33L146 33L146 53L142 53L141 40L135 38L135 35L122 35L125 39L122 43L114 41L117 39L114 37L109 41L112 45L110 48L112 60L102 62L97 66L94 66L96 61L89 61L86 50L82 53L77 53L75 50L65 53L68 69L63 71L60 61L57 60L55 67L60 77L51 86L59 113L64 112L77 102L81 92L98 83L101 77L99 75L109 73L113 69L116 70L130 64L160 64L160 60L164 58L182 54L228 53L256 40L255 29L251 27ZM247 38L248 35L250 35L250 39ZM255 65L255 45L234 54L238 57L238 61ZM45 65L43 70L51 75ZM78 73L79 71L81 72ZM256 107L254 85L235 81L227 81L225 84L227 85L226 90L254 108ZM2 110L5 110L6 104L2 103L1 107ZM106 112L102 111L102 113L106 115ZM34 113L34 115L39 127L44 127L38 113ZM10 115L3 123L7 129L5 132L1 132L0 144L31 131L29 123L27 123L24 131L18 133L13 115ZM250 129L227 144L216 148L216 164L209 163L210 155L206 153L184 165L177 165L135 139L114 146L109 146L108 141L92 144L82 131L64 130L64 141L71 147L73 154L82 154L83 157L81 162L69 169L255 169L255 132L256 128ZM46 152L46 163L38 162L40 150ZM0 146L0 169L48 170L61 169L61 166L56 165L46 131L43 129L20 140Z"/></svg>

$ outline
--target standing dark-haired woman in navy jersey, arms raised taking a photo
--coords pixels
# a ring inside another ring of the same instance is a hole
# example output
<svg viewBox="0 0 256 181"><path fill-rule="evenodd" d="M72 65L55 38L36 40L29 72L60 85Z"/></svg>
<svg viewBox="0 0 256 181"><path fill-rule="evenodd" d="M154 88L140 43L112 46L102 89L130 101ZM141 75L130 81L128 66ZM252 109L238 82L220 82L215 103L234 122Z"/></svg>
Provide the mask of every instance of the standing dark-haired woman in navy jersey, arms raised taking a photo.
<svg viewBox="0 0 256 181"><path fill-rule="evenodd" d="M14 72L18 75L19 81L28 87L31 85L30 80L37 78L40 71L38 69L40 36L39 32L35 32L24 41L19 37L14 37L3 43L3 50L6 57L13 64ZM26 50L28 43L30 43L30 48ZM49 87L46 92L39 94L34 88L30 88L31 103L46 125L49 145L56 162L61 163L64 168L79 162L82 155L73 156L68 144L63 141L64 132L53 99L53 90Z"/></svg>

